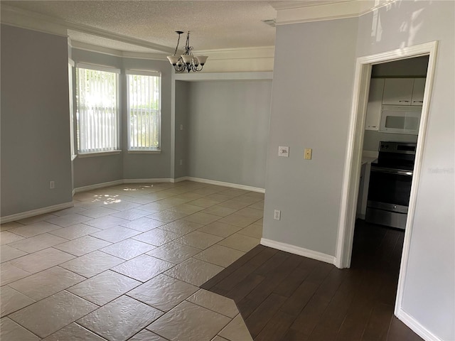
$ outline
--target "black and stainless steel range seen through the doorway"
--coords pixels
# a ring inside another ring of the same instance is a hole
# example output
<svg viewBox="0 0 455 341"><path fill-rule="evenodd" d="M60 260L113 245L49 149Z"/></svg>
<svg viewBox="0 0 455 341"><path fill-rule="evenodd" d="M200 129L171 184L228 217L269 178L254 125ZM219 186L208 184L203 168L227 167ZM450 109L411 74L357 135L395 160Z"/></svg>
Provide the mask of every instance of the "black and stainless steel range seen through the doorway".
<svg viewBox="0 0 455 341"><path fill-rule="evenodd" d="M366 222L405 229L416 144L380 142L371 164Z"/></svg>

